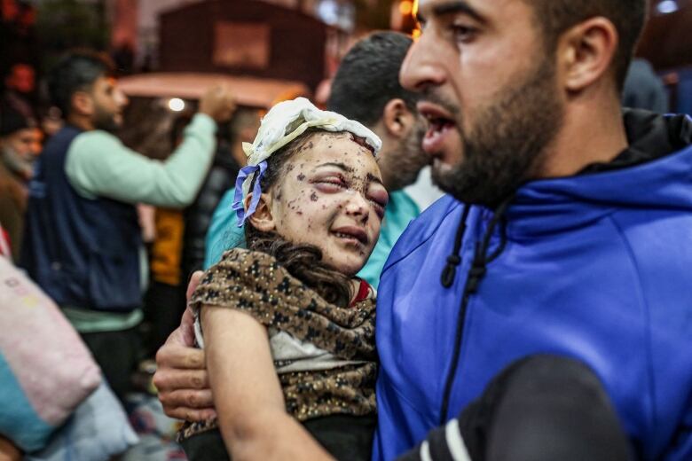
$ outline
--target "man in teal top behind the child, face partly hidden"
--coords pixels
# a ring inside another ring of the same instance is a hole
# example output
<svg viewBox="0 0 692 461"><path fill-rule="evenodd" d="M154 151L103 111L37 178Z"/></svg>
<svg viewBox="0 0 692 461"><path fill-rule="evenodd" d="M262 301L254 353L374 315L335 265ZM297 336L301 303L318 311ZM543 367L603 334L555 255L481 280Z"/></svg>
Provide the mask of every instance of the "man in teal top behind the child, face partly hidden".
<svg viewBox="0 0 692 461"><path fill-rule="evenodd" d="M411 43L407 35L391 31L376 32L356 43L334 76L327 102L328 110L360 121L382 140L378 165L389 203L377 246L358 272L358 277L375 288L392 247L408 223L421 213L403 189L413 184L429 163L421 149L427 122L416 110L418 94L404 90L398 82ZM204 269L218 262L225 250L245 245L232 203L231 190L216 207L207 233Z"/></svg>

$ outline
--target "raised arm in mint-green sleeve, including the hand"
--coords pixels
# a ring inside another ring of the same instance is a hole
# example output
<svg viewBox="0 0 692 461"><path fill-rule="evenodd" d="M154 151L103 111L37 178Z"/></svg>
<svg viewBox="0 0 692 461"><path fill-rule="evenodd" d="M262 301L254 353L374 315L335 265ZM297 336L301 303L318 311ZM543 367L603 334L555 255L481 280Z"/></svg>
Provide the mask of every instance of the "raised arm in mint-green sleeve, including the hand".
<svg viewBox="0 0 692 461"><path fill-rule="evenodd" d="M128 149L105 131L75 138L67 152L67 178L86 197L107 197L160 207L185 207L197 194L214 155L216 123L232 113L225 90L209 90L185 129L185 138L166 161Z"/></svg>

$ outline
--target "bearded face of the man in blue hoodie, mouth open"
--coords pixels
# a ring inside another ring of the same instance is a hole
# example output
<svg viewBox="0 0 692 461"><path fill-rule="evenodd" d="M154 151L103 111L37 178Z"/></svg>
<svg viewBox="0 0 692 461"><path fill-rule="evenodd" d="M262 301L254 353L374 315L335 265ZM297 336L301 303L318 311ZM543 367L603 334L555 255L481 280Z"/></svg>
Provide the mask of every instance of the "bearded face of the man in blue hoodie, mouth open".
<svg viewBox="0 0 692 461"><path fill-rule="evenodd" d="M523 0L421 0L422 35L401 82L423 92L423 146L433 178L470 203L494 206L539 176L562 126L552 51ZM443 145L461 137L461 152Z"/></svg>

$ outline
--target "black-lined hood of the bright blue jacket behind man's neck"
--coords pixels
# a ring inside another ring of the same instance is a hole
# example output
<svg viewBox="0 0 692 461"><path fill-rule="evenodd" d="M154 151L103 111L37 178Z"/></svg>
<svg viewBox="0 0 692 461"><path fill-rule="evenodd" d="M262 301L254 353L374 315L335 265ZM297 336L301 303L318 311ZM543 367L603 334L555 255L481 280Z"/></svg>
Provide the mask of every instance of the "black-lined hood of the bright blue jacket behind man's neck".
<svg viewBox="0 0 692 461"><path fill-rule="evenodd" d="M692 119L645 111L624 117L625 152L577 176L524 184L506 213L508 235L567 230L623 207L692 212Z"/></svg>

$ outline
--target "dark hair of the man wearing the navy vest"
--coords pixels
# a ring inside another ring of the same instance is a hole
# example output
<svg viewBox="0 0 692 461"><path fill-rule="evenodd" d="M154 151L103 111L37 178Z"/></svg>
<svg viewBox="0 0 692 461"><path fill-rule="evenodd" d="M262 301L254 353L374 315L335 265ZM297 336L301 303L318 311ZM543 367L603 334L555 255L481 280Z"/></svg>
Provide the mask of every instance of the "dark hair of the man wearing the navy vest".
<svg viewBox="0 0 692 461"><path fill-rule="evenodd" d="M63 117L71 111L72 95L90 90L100 76L112 76L114 65L105 54L96 51L68 51L48 74L48 92Z"/></svg>

